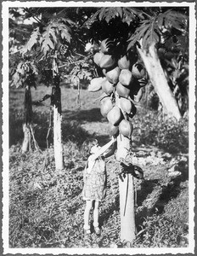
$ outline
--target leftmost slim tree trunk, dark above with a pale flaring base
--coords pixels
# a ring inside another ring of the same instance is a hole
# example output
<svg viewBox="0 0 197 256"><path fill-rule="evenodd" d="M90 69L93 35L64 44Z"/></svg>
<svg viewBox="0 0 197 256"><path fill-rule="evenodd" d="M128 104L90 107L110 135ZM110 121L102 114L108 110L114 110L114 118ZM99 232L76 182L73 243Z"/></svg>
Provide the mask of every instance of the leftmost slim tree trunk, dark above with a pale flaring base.
<svg viewBox="0 0 197 256"><path fill-rule="evenodd" d="M31 150L31 120L32 120L32 104L31 104L31 86L25 86L25 99L24 99L24 122L23 133L24 139L21 147L22 153Z"/></svg>

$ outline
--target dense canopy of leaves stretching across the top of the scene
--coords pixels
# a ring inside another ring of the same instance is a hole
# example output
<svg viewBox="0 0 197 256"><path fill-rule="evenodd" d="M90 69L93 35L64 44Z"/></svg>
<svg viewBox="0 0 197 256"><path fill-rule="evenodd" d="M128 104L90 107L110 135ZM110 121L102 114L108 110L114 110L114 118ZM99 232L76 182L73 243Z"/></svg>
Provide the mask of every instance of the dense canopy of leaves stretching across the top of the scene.
<svg viewBox="0 0 197 256"><path fill-rule="evenodd" d="M51 76L46 73L51 71L53 55L57 54L61 79L79 86L82 80L98 76L91 58L93 51L98 50L98 42L112 39L116 54L121 54L135 50L143 39L144 49L148 50L150 44L155 44L178 107L182 114L187 112L188 8L13 8L9 13L12 85L23 86L29 79L33 86L37 81L51 84ZM27 18L33 18L35 22L21 24ZM89 54L87 44L92 45ZM24 61L31 61L30 73L26 73L22 65ZM39 71L37 78L30 76L35 70Z"/></svg>

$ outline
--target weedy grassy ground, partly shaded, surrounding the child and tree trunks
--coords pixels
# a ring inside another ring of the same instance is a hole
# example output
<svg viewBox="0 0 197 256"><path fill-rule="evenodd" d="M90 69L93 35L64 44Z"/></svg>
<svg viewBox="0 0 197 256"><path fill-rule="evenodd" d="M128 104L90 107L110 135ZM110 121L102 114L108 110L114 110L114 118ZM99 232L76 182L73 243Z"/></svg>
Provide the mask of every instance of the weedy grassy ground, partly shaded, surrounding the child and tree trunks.
<svg viewBox="0 0 197 256"><path fill-rule="evenodd" d="M37 101L50 88L32 91ZM99 112L100 92L62 88L65 170L55 172L49 101L34 107L35 137L42 150L20 154L23 90L9 94L9 244L10 247L127 247L120 241L118 175L114 157L107 163L107 196L100 207L102 234L83 235L81 145L87 137L109 141L108 122ZM135 179L138 236L132 247L187 247L189 221L188 121L158 120L157 113L138 108L133 119L133 151L139 153L144 180ZM178 139L177 139L178 138ZM139 151L140 150L140 151ZM185 160L186 159L186 160ZM181 175L168 168L178 162Z"/></svg>

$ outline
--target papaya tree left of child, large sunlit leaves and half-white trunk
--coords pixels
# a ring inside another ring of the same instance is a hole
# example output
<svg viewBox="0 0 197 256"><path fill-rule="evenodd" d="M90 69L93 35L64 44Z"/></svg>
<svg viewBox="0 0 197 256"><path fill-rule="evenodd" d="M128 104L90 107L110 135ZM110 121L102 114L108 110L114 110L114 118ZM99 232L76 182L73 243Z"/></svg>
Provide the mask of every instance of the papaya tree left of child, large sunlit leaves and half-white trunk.
<svg viewBox="0 0 197 256"><path fill-rule="evenodd" d="M49 67L52 71L52 95L51 102L53 105L53 145L54 145L54 158L55 166L57 169L64 168L63 160L63 146L61 137L61 100L60 100L60 87L59 87L59 68L58 61L60 52L65 52L70 44L70 25L74 24L71 20L65 19L59 14L55 14L54 10L42 9L42 20L37 18L37 10L25 9L27 15L36 17L37 23L30 38L27 40L23 49L20 50L22 58L30 58L36 60L37 67ZM30 100L30 98L29 98ZM31 101L29 101L30 103Z"/></svg>

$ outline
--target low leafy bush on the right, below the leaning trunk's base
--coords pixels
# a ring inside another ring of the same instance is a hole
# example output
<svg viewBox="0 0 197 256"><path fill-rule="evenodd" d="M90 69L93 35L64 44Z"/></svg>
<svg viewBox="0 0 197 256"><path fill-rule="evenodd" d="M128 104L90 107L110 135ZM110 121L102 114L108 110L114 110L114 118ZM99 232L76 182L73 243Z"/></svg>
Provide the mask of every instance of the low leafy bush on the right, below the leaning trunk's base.
<svg viewBox="0 0 197 256"><path fill-rule="evenodd" d="M187 118L179 122L174 119L158 120L157 112L146 113L141 110L134 117L133 125L133 136L138 137L138 145L153 145L172 154L188 153L189 122Z"/></svg>

